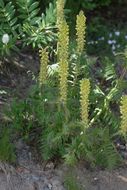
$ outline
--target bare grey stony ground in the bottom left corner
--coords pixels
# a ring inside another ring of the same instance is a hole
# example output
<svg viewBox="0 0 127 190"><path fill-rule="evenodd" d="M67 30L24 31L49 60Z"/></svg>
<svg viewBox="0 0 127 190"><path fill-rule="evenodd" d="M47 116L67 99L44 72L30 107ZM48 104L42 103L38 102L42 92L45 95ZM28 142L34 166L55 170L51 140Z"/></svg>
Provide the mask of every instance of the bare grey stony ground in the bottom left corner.
<svg viewBox="0 0 127 190"><path fill-rule="evenodd" d="M53 163L39 165L34 161L28 146L21 140L17 142L17 166L2 164L0 190L59 190L63 189L60 177ZM4 169L3 169L4 168Z"/></svg>

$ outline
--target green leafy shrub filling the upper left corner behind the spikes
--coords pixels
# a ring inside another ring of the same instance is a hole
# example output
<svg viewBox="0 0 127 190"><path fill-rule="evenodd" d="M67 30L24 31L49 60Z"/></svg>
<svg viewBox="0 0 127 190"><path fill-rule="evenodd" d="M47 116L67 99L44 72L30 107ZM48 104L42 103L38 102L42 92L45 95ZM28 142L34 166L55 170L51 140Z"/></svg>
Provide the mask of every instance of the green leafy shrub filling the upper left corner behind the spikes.
<svg viewBox="0 0 127 190"><path fill-rule="evenodd" d="M40 14L39 1L0 0L0 38L9 37L8 43L0 40L0 55L7 56L19 48L46 46L56 40L56 8L50 3L45 14Z"/></svg>

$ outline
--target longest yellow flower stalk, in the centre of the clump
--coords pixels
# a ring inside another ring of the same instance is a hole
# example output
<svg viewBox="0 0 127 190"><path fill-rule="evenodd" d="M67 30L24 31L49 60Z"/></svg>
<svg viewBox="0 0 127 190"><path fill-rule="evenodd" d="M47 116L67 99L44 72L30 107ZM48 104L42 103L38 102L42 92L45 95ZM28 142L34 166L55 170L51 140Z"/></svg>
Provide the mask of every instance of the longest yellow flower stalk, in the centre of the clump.
<svg viewBox="0 0 127 190"><path fill-rule="evenodd" d="M69 27L63 21L58 33L58 62L60 77L60 100L66 104L67 101L67 77L68 77L68 46L69 46Z"/></svg>

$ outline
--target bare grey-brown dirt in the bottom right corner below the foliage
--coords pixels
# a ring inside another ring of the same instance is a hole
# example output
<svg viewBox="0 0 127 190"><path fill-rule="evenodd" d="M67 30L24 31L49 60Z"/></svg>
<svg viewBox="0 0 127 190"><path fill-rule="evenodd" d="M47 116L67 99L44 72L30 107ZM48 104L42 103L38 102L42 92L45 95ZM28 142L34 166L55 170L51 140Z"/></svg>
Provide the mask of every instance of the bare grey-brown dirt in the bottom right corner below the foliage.
<svg viewBox="0 0 127 190"><path fill-rule="evenodd" d="M114 171L88 171L85 168L78 170L79 178L86 190L126 190L127 167Z"/></svg>

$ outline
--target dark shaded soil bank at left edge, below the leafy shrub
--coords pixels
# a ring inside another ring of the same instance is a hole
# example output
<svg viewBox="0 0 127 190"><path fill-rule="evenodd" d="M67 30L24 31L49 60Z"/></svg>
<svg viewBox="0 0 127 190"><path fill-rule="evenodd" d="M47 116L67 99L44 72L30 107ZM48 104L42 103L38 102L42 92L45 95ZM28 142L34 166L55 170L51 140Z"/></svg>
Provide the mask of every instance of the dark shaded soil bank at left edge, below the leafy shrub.
<svg viewBox="0 0 127 190"><path fill-rule="evenodd" d="M0 62L0 110L15 97L25 98L39 70L37 56L21 53ZM0 118L2 112L0 111Z"/></svg>

